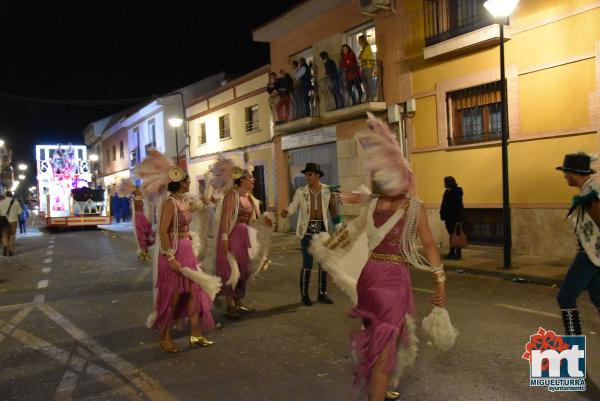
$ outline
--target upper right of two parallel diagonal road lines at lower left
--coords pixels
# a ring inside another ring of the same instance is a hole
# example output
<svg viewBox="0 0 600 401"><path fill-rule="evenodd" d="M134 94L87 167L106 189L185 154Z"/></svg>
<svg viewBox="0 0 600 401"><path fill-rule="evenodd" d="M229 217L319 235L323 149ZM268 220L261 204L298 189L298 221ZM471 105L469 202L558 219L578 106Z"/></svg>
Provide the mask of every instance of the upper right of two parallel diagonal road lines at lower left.
<svg viewBox="0 0 600 401"><path fill-rule="evenodd" d="M39 305L38 309L44 312L44 314L46 314L50 319L54 320L54 322L62 327L67 333L69 333L75 340L79 341L79 343L87 347L87 349L90 351L94 352L100 359L116 369L123 377L125 377L135 387L142 391L149 399L161 401L177 400L177 398L171 395L156 380L152 379L150 376L137 369L129 362L124 361L116 354L94 341L94 339L73 325L73 323L67 320L51 306L43 304ZM135 395L136 393L133 392L133 394Z"/></svg>

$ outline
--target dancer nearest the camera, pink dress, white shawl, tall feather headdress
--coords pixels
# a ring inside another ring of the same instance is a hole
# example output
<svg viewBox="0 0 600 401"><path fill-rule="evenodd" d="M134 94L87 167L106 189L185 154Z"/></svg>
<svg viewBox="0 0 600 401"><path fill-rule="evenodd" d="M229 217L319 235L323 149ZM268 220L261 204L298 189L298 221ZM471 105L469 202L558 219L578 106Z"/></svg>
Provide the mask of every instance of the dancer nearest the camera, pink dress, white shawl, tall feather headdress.
<svg viewBox="0 0 600 401"><path fill-rule="evenodd" d="M370 401L397 398L402 371L416 357L415 304L409 266L429 271L435 280L436 307L424 321L434 345L448 349L457 332L445 309L445 275L422 202L414 195L415 178L402 151L379 119L369 114L369 133L357 136L375 194L363 196L361 214L333 236L317 235L311 253L356 303L352 316L363 329L353 333L358 355L355 383L365 383ZM347 202L350 196L343 196ZM354 198L357 198L354 196ZM360 197L358 197L360 198ZM426 257L417 252L417 237ZM432 328L433 326L433 328Z"/></svg>

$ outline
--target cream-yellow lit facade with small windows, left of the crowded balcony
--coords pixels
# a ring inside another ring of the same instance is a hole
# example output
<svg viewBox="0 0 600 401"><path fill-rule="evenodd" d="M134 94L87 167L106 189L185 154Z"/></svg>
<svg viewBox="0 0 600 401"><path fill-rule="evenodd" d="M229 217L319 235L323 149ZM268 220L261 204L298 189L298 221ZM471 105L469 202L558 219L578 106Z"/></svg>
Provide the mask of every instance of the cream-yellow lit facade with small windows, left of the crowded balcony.
<svg viewBox="0 0 600 401"><path fill-rule="evenodd" d="M186 109L191 177L190 193L203 192L205 174L222 153L240 166L254 166L254 195L271 208L276 183L273 174L271 114L265 66L228 82L191 102Z"/></svg>

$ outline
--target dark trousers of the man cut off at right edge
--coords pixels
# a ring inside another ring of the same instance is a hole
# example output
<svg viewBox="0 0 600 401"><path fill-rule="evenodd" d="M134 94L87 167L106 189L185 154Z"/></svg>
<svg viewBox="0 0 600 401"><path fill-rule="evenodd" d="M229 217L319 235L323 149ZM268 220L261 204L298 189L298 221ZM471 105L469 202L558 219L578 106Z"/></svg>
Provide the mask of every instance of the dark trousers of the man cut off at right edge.
<svg viewBox="0 0 600 401"><path fill-rule="evenodd" d="M585 251L579 250L556 300L561 309L577 309L577 297L588 290L592 303L600 310L600 267L592 263Z"/></svg>

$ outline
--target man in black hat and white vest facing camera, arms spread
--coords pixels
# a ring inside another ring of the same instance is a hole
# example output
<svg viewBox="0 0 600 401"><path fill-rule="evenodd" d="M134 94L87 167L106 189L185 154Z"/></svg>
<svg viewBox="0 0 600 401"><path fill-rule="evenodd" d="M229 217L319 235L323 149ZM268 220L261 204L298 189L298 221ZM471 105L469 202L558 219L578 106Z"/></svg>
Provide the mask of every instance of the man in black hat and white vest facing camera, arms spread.
<svg viewBox="0 0 600 401"><path fill-rule="evenodd" d="M292 203L281 212L281 217L287 217L289 214L294 214L296 210L299 211L296 235L302 238L300 241L302 248L300 295L304 305L312 306L312 301L308 295L310 273L313 267L313 257L308 252L310 241L314 234L328 231L328 209L334 225L339 223L339 217L334 199L331 196L331 190L327 185L321 184L321 177L324 175L321 166L316 163L306 163L306 167L301 173L306 177L307 185L296 190ZM327 272L321 269L321 265L319 265L318 292L318 302L323 304L333 303L327 296Z"/></svg>

